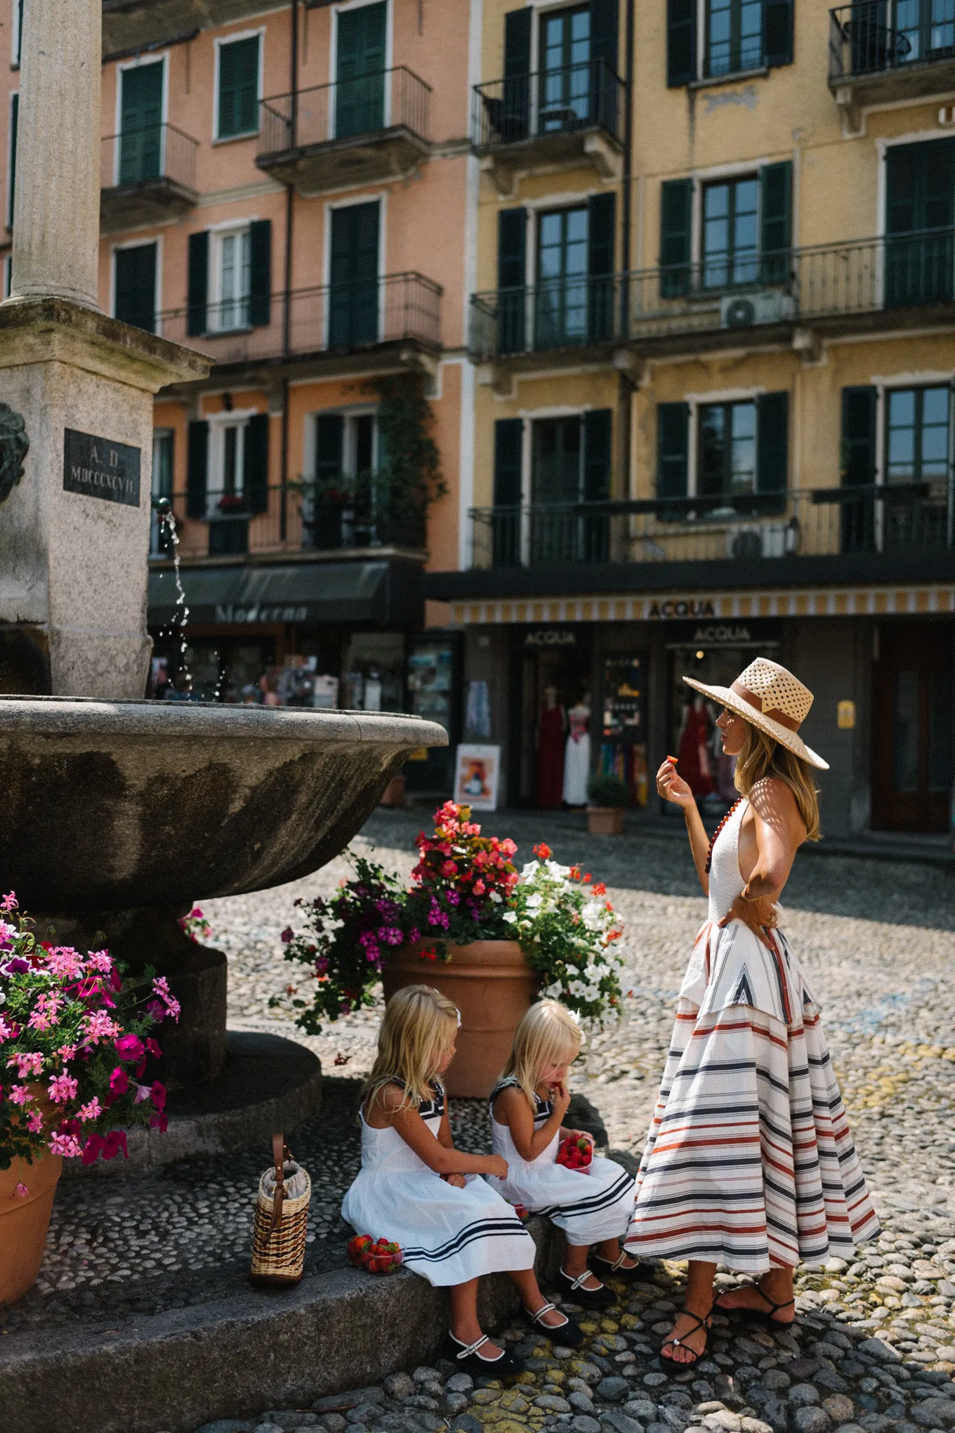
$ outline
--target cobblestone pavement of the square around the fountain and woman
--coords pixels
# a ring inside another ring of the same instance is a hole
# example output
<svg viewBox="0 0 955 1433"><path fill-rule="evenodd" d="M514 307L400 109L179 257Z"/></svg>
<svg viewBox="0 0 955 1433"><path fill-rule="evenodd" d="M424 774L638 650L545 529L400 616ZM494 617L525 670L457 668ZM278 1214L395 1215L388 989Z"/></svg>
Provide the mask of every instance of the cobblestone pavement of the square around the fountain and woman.
<svg viewBox="0 0 955 1433"><path fill-rule="evenodd" d="M379 813L362 844L407 871L421 824ZM581 823L583 825L583 823ZM587 837L573 821L494 817L520 857L546 838L607 881L626 923L634 996L627 1017L591 1039L573 1088L600 1112L611 1151L639 1155L670 1036L673 999L704 911L682 841ZM295 886L210 901L215 944L231 960L231 1025L294 1035L269 996L295 980L279 931L298 894L328 893L344 861ZM507 1337L528 1373L507 1390L467 1386L447 1364L395 1374L379 1389L319 1400L316 1409L263 1410L258 1423L220 1422L206 1433L315 1427L326 1433L915 1433L955 1427L955 897L951 874L929 866L800 856L787 890L787 929L823 1006L833 1060L866 1175L883 1221L850 1265L800 1270L792 1330L716 1317L707 1357L676 1373L657 1357L680 1301L682 1268L621 1291L620 1307L587 1323L586 1350L551 1348L525 1330ZM375 1012L329 1026L315 1049L326 1075L322 1115L292 1144L316 1181L309 1277L341 1267L338 1218L358 1161L355 1076L369 1065ZM339 1060L336 1065L335 1060ZM487 1148L480 1102L454 1106L455 1138ZM322 1154L341 1151L331 1171ZM178 1165L123 1181L63 1184L37 1287L0 1326L26 1337L77 1318L117 1320L215 1301L243 1285L252 1192L263 1151ZM735 1278L722 1274L724 1285ZM140 1327L145 1327L140 1320Z"/></svg>

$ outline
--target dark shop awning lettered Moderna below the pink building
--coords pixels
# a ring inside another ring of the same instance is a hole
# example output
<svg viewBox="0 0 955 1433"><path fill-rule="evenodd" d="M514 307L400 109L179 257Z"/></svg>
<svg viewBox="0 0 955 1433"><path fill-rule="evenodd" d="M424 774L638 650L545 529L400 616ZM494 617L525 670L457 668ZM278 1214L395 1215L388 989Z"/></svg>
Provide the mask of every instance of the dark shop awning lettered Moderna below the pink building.
<svg viewBox="0 0 955 1433"><path fill-rule="evenodd" d="M249 622L422 622L421 567L411 562L296 562L242 567L183 567L189 620L241 626ZM176 615L172 567L149 573L149 626Z"/></svg>

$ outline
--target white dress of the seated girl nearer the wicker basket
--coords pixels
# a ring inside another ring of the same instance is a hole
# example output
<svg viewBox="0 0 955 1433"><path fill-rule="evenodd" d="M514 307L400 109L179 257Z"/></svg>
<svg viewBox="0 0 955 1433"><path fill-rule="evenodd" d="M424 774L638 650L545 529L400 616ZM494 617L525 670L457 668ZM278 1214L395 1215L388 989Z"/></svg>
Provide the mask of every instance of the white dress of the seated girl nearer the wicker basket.
<svg viewBox="0 0 955 1433"><path fill-rule="evenodd" d="M418 1113L437 1136L444 1088ZM430 1169L397 1129L361 1116L361 1169L342 1201L357 1234L395 1240L405 1265L444 1288L481 1274L534 1267L535 1245L514 1209L478 1175L462 1189Z"/></svg>

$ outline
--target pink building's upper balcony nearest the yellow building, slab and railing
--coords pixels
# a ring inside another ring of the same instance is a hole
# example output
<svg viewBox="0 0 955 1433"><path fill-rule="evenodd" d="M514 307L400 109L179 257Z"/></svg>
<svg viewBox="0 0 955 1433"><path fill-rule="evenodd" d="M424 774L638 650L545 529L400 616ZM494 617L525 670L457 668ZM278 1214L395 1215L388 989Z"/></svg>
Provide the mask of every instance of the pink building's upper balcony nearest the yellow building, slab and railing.
<svg viewBox="0 0 955 1433"><path fill-rule="evenodd" d="M431 86L398 66L262 100L256 165L299 193L404 179L428 145Z"/></svg>

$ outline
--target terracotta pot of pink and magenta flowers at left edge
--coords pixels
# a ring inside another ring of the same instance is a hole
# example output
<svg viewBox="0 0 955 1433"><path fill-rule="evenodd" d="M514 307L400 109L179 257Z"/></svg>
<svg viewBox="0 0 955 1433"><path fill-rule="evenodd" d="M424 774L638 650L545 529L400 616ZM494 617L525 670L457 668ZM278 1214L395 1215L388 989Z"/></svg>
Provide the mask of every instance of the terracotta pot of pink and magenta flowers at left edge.
<svg viewBox="0 0 955 1433"><path fill-rule="evenodd" d="M63 1159L113 1159L130 1125L166 1128L165 1088L140 1080L179 1005L153 970L123 970L37 941L16 896L0 900L0 1304L37 1277Z"/></svg>

